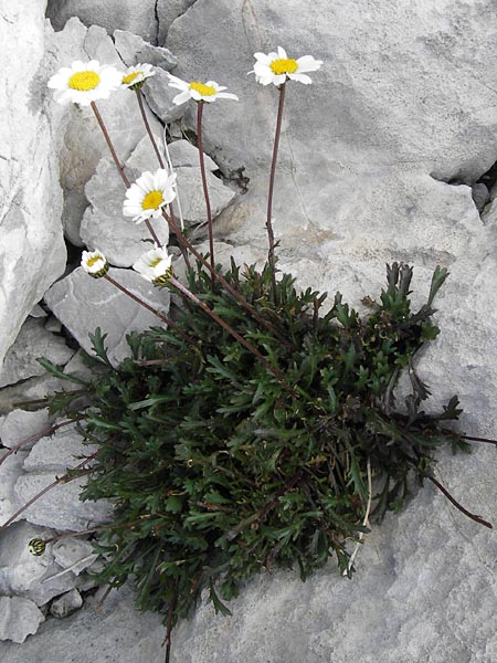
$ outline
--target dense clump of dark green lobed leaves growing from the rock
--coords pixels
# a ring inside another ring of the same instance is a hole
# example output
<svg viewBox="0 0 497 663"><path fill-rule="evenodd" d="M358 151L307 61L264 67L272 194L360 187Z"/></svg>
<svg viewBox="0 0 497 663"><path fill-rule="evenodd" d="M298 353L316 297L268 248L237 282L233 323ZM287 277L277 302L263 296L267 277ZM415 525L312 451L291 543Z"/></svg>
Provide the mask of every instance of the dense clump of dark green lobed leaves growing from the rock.
<svg viewBox="0 0 497 663"><path fill-rule="evenodd" d="M348 567L350 541L373 518L398 509L410 480L431 475L436 449L467 443L447 434L457 419L454 397L440 415L421 403L429 390L413 367L433 340L433 301L447 273L437 267L427 303L413 313L412 269L388 267L378 302L366 299L361 318L337 294L298 292L232 263L231 284L287 339L275 338L200 267L191 292L277 366L293 392L253 354L189 302L177 324L194 345L170 329L128 337L130 358L113 369L105 337L94 347L108 370L89 388L85 436L101 445L85 499L110 498L115 522L97 536L107 557L103 582L128 578L142 610L187 617L201 592L216 610L261 569L293 567L305 579L336 556ZM99 362L102 366L102 362ZM412 393L402 411L393 389L409 369ZM368 472L374 495L368 491Z"/></svg>

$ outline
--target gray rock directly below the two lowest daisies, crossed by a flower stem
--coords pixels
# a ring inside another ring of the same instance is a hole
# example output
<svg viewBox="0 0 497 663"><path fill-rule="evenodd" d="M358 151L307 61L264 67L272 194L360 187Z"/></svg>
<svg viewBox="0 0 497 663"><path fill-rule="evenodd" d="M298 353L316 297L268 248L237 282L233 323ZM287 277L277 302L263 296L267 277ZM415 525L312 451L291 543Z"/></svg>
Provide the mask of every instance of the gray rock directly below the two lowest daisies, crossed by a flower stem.
<svg viewBox="0 0 497 663"><path fill-rule="evenodd" d="M139 274L110 267L109 276L141 297L148 305L167 315L169 293L154 287ZM126 334L163 325L155 314L130 299L105 278L92 278L82 267L55 283L45 294L45 302L67 327L83 349L92 354L88 333L96 327L107 334L105 345L113 364L129 356Z"/></svg>

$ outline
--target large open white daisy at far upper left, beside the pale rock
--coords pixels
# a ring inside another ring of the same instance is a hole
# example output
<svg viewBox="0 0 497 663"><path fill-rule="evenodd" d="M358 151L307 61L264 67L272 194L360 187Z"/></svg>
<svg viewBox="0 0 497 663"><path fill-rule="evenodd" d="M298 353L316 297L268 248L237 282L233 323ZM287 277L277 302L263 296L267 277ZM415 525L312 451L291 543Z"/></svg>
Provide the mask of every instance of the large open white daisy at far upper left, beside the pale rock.
<svg viewBox="0 0 497 663"><path fill-rule="evenodd" d="M99 64L96 60L76 60L71 67L63 66L47 85L55 90L54 98L60 104L89 106L97 99L106 99L119 87L123 74L114 66Z"/></svg>

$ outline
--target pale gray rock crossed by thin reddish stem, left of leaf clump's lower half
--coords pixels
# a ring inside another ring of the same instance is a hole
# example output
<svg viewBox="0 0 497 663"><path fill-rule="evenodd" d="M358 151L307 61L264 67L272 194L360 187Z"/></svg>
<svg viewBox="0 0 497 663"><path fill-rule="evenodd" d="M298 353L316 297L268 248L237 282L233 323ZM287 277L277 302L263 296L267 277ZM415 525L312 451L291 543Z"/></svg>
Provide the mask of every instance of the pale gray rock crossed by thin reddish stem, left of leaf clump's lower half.
<svg viewBox="0 0 497 663"><path fill-rule="evenodd" d="M62 473L29 472L23 474L15 483L14 491L18 502L25 504L60 476ZM29 506L22 514L22 518L33 525L53 527L62 532L78 532L87 529L92 525L108 522L112 518L112 505L103 499L82 502L80 494L84 485L84 477L56 485Z"/></svg>

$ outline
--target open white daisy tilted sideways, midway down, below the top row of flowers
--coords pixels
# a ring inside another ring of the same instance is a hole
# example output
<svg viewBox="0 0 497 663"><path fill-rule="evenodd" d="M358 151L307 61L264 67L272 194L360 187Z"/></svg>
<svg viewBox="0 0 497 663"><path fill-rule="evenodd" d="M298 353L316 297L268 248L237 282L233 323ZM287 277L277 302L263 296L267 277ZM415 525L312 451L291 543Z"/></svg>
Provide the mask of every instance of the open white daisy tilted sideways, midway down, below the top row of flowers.
<svg viewBox="0 0 497 663"><path fill-rule="evenodd" d="M144 172L126 191L123 214L133 217L137 223L146 219L157 219L162 208L176 198L176 172L159 168L156 172Z"/></svg>

